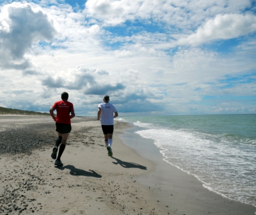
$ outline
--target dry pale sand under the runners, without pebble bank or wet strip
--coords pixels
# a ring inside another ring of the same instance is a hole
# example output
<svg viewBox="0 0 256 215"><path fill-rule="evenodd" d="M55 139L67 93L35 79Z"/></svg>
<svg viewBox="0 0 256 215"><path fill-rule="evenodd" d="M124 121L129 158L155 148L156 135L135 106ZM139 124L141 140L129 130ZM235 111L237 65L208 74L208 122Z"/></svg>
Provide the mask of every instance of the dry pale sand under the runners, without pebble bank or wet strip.
<svg viewBox="0 0 256 215"><path fill-rule="evenodd" d="M15 122L16 129L26 121L54 124L51 117L31 120L31 116L24 116L20 121L13 117L10 121ZM1 155L0 213L168 214L153 194L133 179L152 171L154 165L121 143L117 133L125 125L115 125L111 158L104 147L100 122L80 121L77 117L72 120L68 145L61 157L63 167L54 166L51 158L54 142L27 154Z"/></svg>

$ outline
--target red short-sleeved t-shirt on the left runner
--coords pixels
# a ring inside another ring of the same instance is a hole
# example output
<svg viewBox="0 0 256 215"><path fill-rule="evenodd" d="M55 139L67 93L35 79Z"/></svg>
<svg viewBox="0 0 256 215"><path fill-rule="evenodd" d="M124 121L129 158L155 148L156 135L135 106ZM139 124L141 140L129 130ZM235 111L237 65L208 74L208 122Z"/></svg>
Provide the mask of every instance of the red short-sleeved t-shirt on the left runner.
<svg viewBox="0 0 256 215"><path fill-rule="evenodd" d="M58 101L52 106L57 110L56 123L71 125L70 112L74 111L73 104L68 101Z"/></svg>

